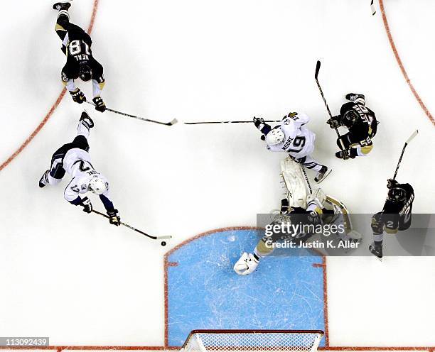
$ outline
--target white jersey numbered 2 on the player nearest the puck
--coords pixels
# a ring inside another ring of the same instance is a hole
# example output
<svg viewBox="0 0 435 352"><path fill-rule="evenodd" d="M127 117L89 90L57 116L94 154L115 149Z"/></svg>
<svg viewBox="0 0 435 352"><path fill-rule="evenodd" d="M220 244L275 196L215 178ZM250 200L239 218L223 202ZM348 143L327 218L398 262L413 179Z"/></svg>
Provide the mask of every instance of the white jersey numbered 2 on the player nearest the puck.
<svg viewBox="0 0 435 352"><path fill-rule="evenodd" d="M73 180L68 183L65 192L63 192L63 196L68 202L77 199L79 194L90 191L89 181L92 176L100 175L103 180L106 180L106 178L92 166L89 153L80 148L68 150L63 158L63 168L73 177ZM107 191L104 192L103 195L111 201L109 197L109 187L107 187Z"/></svg>

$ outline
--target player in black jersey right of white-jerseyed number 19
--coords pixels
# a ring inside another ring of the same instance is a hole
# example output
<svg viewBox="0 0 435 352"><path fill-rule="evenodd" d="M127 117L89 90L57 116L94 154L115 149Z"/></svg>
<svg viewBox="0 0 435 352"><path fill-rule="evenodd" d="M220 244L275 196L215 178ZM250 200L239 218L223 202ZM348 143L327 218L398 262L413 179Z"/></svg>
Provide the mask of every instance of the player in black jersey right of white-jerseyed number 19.
<svg viewBox="0 0 435 352"><path fill-rule="evenodd" d="M364 95L349 93L346 99L350 102L341 106L340 115L327 121L331 128L343 126L349 130L337 138L340 151L335 156L343 160L370 153L373 148L372 138L377 130L375 113L365 106Z"/></svg>

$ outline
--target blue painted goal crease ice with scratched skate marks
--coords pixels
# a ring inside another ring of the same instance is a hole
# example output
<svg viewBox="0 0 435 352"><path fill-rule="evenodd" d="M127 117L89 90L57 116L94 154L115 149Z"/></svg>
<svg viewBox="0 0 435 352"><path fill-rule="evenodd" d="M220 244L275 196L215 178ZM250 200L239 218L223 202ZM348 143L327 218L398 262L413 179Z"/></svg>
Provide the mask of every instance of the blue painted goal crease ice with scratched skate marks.
<svg viewBox="0 0 435 352"><path fill-rule="evenodd" d="M167 346L181 346L193 329L325 330L323 258L273 256L236 275L240 253L258 240L255 229L220 229L167 253Z"/></svg>

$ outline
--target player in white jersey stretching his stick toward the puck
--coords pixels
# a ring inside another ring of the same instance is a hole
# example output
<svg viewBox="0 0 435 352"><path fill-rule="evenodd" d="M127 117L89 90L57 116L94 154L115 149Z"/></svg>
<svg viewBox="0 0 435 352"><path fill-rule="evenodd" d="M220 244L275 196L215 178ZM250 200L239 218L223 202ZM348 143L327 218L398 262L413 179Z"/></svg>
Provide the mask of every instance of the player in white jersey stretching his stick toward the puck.
<svg viewBox="0 0 435 352"><path fill-rule="evenodd" d="M39 187L57 185L65 175L65 172L73 177L65 188L65 199L75 206L83 207L86 213L92 212L92 203L87 197L80 197L89 191L100 196L102 204L109 216L110 224L119 226L120 217L117 209L114 209L112 199L109 196L109 182L92 166L88 153L89 144L87 138L94 121L86 113L82 112L77 126L77 136L73 142L62 145L55 151L51 158L50 170L46 170L39 180Z"/></svg>

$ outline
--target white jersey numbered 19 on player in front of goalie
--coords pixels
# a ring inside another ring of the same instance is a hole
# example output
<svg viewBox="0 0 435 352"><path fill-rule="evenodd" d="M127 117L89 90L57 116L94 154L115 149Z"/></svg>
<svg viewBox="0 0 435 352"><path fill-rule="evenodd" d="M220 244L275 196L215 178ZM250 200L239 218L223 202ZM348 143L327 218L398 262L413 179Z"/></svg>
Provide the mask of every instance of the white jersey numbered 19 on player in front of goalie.
<svg viewBox="0 0 435 352"><path fill-rule="evenodd" d="M294 158L303 158L313 153L316 133L304 126L308 121L310 118L304 113L286 116L279 126L284 132L284 141L267 145L267 149L273 152L287 152Z"/></svg>

